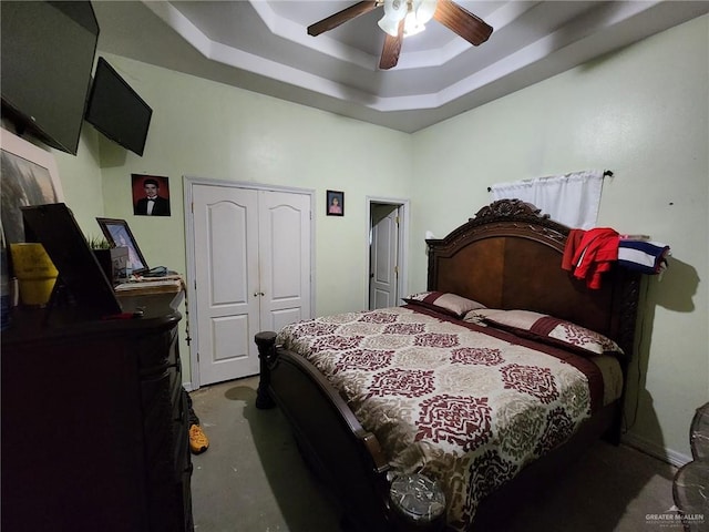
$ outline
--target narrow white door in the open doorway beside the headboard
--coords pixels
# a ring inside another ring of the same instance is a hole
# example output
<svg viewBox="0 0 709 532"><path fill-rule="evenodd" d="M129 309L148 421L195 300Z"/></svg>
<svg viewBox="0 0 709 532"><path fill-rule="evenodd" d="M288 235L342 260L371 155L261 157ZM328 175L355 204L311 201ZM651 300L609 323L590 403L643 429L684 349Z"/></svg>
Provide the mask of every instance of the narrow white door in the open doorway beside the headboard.
<svg viewBox="0 0 709 532"><path fill-rule="evenodd" d="M369 308L395 307L399 300L399 206L371 206Z"/></svg>

